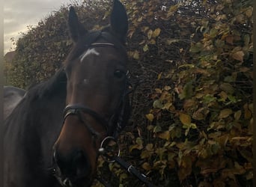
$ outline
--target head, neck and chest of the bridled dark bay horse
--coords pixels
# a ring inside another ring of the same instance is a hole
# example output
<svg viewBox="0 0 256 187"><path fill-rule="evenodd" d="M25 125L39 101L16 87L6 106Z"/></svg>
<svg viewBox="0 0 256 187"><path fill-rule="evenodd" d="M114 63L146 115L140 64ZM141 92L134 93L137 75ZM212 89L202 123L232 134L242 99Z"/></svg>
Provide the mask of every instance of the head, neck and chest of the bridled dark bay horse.
<svg viewBox="0 0 256 187"><path fill-rule="evenodd" d="M4 187L91 186L100 144L129 118L128 29L115 0L110 25L87 31L70 7L73 49L51 79L30 88L4 126Z"/></svg>

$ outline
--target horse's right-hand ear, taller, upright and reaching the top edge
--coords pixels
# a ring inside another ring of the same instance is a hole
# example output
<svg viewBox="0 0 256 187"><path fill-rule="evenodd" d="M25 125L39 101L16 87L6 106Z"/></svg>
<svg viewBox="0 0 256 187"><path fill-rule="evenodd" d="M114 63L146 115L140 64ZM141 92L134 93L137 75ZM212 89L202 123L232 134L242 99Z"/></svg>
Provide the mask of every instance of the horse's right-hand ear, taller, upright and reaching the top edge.
<svg viewBox="0 0 256 187"><path fill-rule="evenodd" d="M122 43L125 43L125 38L128 31L127 11L120 1L114 0L113 9L110 17L112 31L118 35Z"/></svg>

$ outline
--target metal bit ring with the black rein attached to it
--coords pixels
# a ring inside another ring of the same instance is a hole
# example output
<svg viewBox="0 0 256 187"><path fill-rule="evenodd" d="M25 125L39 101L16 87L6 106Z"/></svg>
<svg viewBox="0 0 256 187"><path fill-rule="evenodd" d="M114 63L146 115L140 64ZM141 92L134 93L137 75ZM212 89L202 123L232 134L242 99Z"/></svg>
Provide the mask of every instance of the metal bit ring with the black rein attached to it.
<svg viewBox="0 0 256 187"><path fill-rule="evenodd" d="M110 145L109 142L111 142L112 145ZM118 151L116 151L115 147L118 147ZM106 162L117 162L125 170L127 170L129 174L133 174L135 177L137 177L138 180L146 184L148 187L156 187L150 183L150 181L147 179L147 176L141 174L133 165L125 162L124 159L121 159L120 149L115 138L110 136L106 137L100 145L99 153L101 156L103 156L103 159L105 159ZM99 180L100 183L102 183L104 186L110 187L110 185L106 183L106 181L100 179L100 177L97 177L97 180Z"/></svg>

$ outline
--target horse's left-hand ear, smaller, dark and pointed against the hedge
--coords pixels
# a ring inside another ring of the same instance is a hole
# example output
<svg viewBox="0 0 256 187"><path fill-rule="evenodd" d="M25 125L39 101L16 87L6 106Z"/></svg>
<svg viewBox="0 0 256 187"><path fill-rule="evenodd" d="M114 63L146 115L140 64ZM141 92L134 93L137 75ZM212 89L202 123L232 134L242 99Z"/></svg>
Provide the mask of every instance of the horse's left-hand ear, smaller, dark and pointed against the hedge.
<svg viewBox="0 0 256 187"><path fill-rule="evenodd" d="M68 28L70 31L70 37L75 43L79 40L79 37L82 37L87 33L82 23L79 22L76 11L72 6L70 7L70 13L68 15Z"/></svg>

